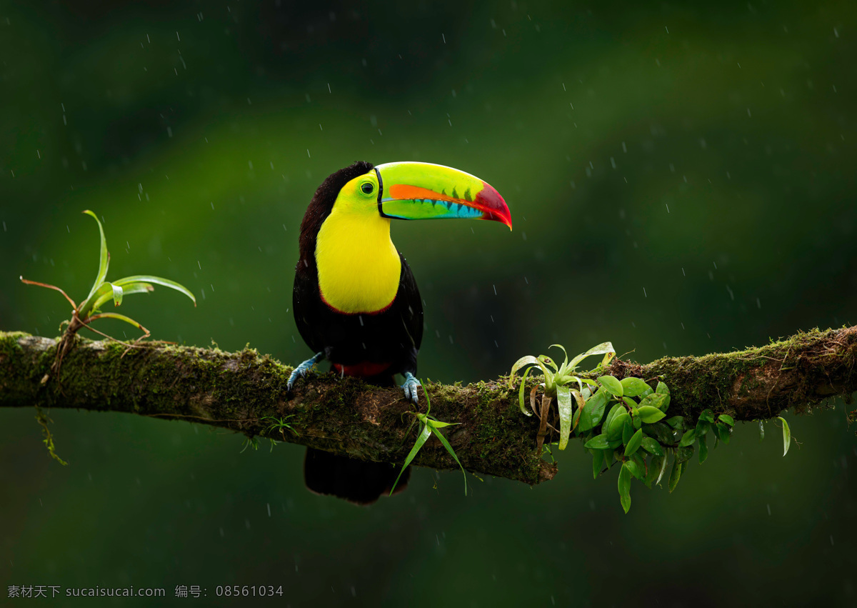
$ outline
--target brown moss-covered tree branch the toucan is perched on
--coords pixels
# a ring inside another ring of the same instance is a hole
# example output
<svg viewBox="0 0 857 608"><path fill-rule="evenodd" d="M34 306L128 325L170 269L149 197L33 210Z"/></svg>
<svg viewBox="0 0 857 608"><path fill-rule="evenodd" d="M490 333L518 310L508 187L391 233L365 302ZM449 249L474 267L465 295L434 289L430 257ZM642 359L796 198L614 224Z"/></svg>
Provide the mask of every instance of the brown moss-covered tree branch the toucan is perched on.
<svg viewBox="0 0 857 608"><path fill-rule="evenodd" d="M401 389L326 374L299 381L290 394L285 383L291 367L254 350L159 342L129 348L79 338L59 378L42 382L56 349L56 340L0 332L0 406L183 419L373 461L405 461L416 438L407 413L413 406ZM834 396L849 400L857 390L855 352L857 327L813 330L740 352L650 364L615 361L608 373L642 377L652 385L661 377L672 394L668 416L695 421L710 408L735 420L754 420L774 418L788 407L809 412ZM521 414L518 391L508 388L505 378L425 388L432 414L460 423L446 427L445 434L465 468L527 484L554 477L556 466L543 461L536 449L538 420ZM273 418L284 418L294 431L272 427ZM415 464L458 467L434 438Z"/></svg>

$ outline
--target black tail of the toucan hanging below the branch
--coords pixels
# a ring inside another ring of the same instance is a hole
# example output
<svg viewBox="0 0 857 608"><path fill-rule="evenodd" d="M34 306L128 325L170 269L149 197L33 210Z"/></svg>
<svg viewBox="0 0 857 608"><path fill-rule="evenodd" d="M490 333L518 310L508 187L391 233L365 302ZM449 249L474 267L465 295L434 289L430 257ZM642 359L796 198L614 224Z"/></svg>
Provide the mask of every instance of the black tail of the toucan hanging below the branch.
<svg viewBox="0 0 857 608"><path fill-rule="evenodd" d="M307 448L303 479L310 491L345 498L349 503L372 504L389 494L399 475L399 467L387 462L358 461L321 449ZM410 467L399 479L396 494L405 490Z"/></svg>

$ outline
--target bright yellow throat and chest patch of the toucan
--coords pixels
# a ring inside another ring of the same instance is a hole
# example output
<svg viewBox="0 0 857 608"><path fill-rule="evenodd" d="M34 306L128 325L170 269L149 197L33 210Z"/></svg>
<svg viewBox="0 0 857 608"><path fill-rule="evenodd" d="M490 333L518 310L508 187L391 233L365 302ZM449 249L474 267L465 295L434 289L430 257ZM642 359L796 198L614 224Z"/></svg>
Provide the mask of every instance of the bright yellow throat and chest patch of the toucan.
<svg viewBox="0 0 857 608"><path fill-rule="evenodd" d="M396 297L402 264L390 240L389 218L378 214L374 200L352 196L354 182L345 185L321 224L315 264L328 305L350 314L373 313Z"/></svg>

